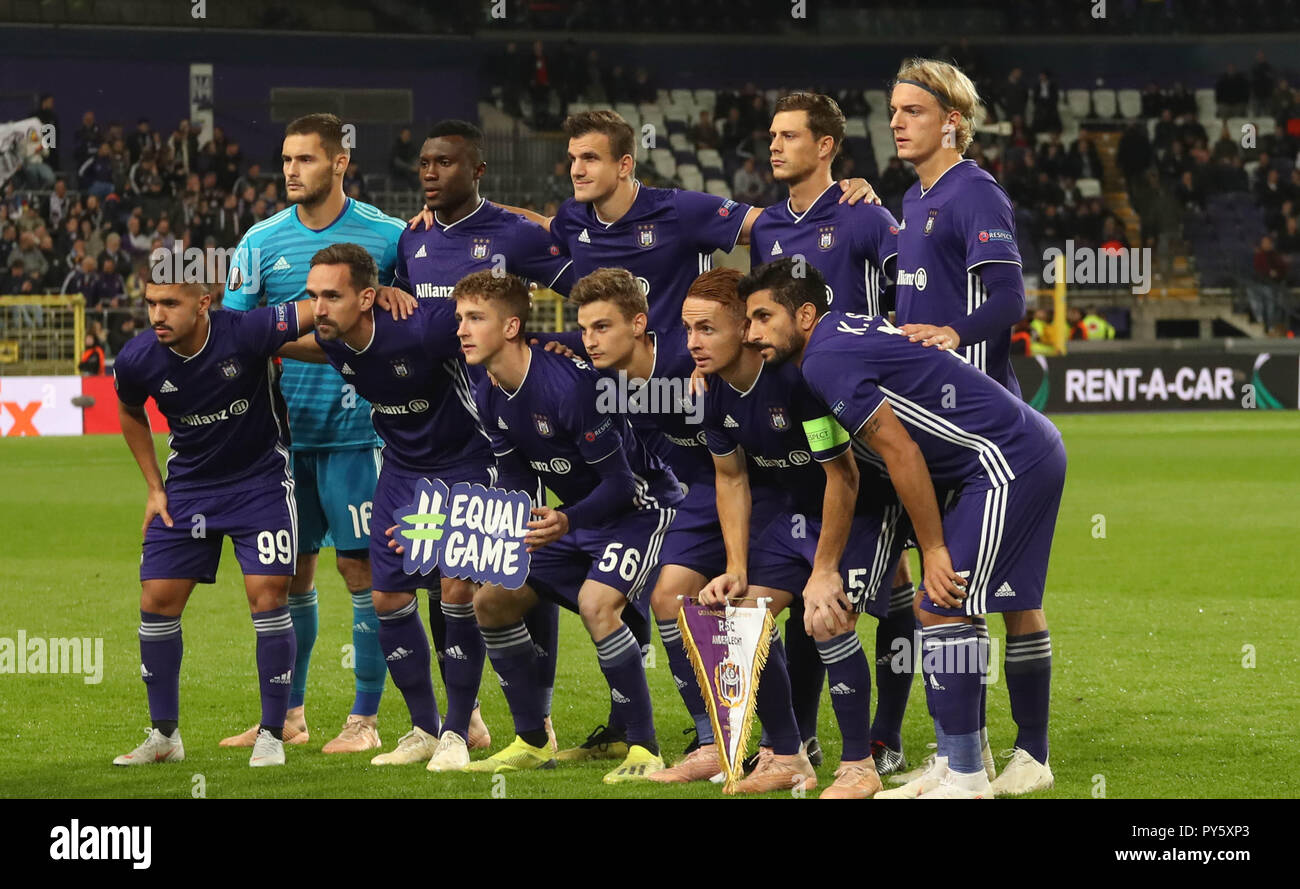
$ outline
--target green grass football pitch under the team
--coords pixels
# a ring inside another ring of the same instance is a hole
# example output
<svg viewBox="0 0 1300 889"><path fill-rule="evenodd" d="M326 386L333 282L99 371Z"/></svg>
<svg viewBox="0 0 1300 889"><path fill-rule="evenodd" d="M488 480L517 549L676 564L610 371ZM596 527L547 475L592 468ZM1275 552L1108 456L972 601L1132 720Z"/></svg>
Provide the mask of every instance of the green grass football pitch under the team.
<svg viewBox="0 0 1300 889"><path fill-rule="evenodd" d="M1044 797L1296 797L1290 777L1300 701L1300 415L1282 412L1062 416L1069 481L1056 532L1052 766ZM161 446L161 441L160 441ZM612 763L508 776L377 768L369 755L325 756L352 680L348 598L324 554L321 632L312 659L308 747L289 766L250 769L217 740L257 716L254 633L229 543L220 580L185 615L183 763L120 769L148 724L139 681L139 521L144 487L117 438L0 443L0 637L103 637L104 676L0 675L0 797L718 797L708 784L607 786ZM1104 533L1101 537L1104 521ZM421 597L421 611L424 598ZM996 637L1004 630L991 620ZM859 624L867 651L874 621ZM662 649L647 671L659 740L681 750L689 717ZM504 701L485 673L494 747L510 740ZM439 684L441 693L441 684ZM824 695L826 693L823 693ZM1014 725L1005 685L989 689L994 750ZM555 725L580 742L607 712L595 652L564 615ZM408 723L389 685L385 747ZM838 741L823 698L819 736L831 781ZM913 689L904 729L919 758L932 741ZM202 779L199 777L202 776ZM780 795L780 794L776 794ZM815 795L815 794L810 794Z"/></svg>

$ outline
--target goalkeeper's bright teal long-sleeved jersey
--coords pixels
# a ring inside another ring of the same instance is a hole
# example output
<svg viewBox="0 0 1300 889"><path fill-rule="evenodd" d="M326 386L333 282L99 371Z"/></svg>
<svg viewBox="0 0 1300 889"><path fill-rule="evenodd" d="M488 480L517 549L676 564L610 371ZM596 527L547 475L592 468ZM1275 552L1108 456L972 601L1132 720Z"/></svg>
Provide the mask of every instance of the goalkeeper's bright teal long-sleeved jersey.
<svg viewBox="0 0 1300 889"><path fill-rule="evenodd" d="M246 312L263 300L278 305L307 298L307 272L316 251L351 242L369 251L380 283L393 282L398 238L406 224L369 204L347 199L343 212L321 230L308 229L289 207L244 233L231 259L224 307ZM329 364L285 359L280 389L289 406L295 451L376 447L370 403Z"/></svg>

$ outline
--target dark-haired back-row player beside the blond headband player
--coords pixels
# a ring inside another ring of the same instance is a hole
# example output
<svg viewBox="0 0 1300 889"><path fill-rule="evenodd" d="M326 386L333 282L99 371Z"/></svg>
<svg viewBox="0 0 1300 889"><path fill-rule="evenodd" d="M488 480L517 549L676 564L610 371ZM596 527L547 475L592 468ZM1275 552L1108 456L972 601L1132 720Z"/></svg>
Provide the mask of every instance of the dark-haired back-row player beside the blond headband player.
<svg viewBox="0 0 1300 889"><path fill-rule="evenodd" d="M836 203L831 166L844 146L845 118L835 99L816 92L792 92L776 101L771 125L772 177L789 188L785 201L764 209L750 233L750 266L781 257L800 257L827 281L827 299L844 312L879 315L885 308L893 276L898 224L884 207ZM876 625L876 719L871 749L880 775L906 766L902 717L911 690L911 664L894 656L896 639L910 645L915 620L911 571L906 559L889 595L889 613ZM812 641L802 632L802 603L796 602L785 624L785 646L794 686L794 711L814 763L818 707L826 671ZM898 668L901 665L901 668Z"/></svg>

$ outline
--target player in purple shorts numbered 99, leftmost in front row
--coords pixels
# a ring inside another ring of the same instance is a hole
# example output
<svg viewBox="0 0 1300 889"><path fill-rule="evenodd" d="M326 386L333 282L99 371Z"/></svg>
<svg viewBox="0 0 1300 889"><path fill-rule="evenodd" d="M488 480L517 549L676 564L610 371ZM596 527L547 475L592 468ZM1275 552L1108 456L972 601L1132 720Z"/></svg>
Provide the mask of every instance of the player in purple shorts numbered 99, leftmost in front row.
<svg viewBox="0 0 1300 889"><path fill-rule="evenodd" d="M146 287L152 337L117 356L122 435L148 485L140 558L140 677L152 728L114 766L178 762L181 612L196 584L216 582L222 539L234 543L257 634L261 721L250 766L283 766L285 712L296 639L289 581L298 552L285 406L270 359L294 355L312 326L307 300L251 312L212 312L203 283ZM168 419L166 481L144 402Z"/></svg>

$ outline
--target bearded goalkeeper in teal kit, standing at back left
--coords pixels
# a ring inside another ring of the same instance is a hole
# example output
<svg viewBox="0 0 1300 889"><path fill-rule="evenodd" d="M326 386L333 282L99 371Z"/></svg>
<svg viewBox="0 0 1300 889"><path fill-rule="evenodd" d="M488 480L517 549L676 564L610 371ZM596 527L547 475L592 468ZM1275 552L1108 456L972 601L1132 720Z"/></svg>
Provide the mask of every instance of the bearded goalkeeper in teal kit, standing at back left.
<svg viewBox="0 0 1300 889"><path fill-rule="evenodd" d="M342 122L308 114L285 129L283 172L290 207L254 225L235 250L224 308L247 311L263 300L277 305L304 299L316 251L338 242L361 244L374 257L380 282L393 281L404 224L343 194L348 164ZM285 743L308 741L304 715L307 669L316 642L316 559L333 543L338 571L352 595L356 699L342 733L325 753L381 746L376 714L386 665L378 619L370 602L370 503L380 468L380 438L370 404L328 364L285 360L280 390L289 407L292 470L298 495L298 561L289 608L298 638ZM251 746L256 727L222 746Z"/></svg>

